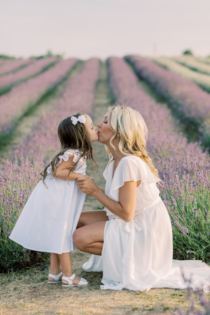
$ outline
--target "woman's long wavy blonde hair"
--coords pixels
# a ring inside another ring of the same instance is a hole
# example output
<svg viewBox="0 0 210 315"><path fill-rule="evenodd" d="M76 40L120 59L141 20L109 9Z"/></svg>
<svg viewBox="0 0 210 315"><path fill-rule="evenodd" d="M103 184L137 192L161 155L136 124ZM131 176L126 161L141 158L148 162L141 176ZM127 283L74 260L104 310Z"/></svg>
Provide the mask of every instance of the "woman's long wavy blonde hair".
<svg viewBox="0 0 210 315"><path fill-rule="evenodd" d="M113 139L119 134L119 150L126 155L135 155L140 157L150 168L151 172L157 177L158 170L154 167L152 160L146 151L146 139L148 130L143 117L135 109L115 104L108 108L108 124L114 135L110 139L110 145ZM111 152L105 146L106 151L111 157Z"/></svg>

